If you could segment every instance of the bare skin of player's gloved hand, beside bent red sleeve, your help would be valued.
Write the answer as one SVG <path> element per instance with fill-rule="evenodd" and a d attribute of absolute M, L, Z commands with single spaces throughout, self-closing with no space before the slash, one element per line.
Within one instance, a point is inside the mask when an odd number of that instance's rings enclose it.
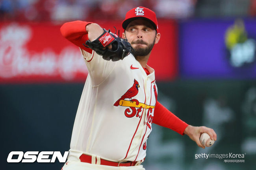
<path fill-rule="evenodd" d="M 103 29 L 98 24 L 96 24 L 96 23 L 88 24 L 85 27 L 85 29 L 86 29 L 86 31 L 88 33 L 88 39 L 90 41 L 96 40 L 96 38 L 98 38 L 104 32 Z M 111 49 L 112 45 L 110 44 L 106 48 Z M 103 49 L 106 49 L 106 48 L 103 48 Z"/>

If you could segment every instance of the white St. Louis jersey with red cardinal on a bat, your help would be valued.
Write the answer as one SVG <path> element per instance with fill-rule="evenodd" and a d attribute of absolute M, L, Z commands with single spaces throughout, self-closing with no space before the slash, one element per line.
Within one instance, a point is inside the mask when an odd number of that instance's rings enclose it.
<path fill-rule="evenodd" d="M 157 98 L 154 69 L 146 66 L 147 75 L 132 54 L 112 62 L 95 51 L 80 50 L 89 75 L 68 160 L 93 154 L 109 161 L 143 161 Z"/>

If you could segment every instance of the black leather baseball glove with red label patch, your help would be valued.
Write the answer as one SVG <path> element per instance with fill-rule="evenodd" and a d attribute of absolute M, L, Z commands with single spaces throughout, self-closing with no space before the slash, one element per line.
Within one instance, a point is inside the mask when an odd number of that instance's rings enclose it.
<path fill-rule="evenodd" d="M 110 29 L 100 35 L 96 40 L 87 40 L 85 44 L 93 49 L 98 55 L 102 55 L 104 60 L 118 61 L 124 59 L 132 51 L 131 44 L 126 40 L 118 37 L 117 35 L 110 32 Z M 112 45 L 112 49 L 106 48 L 108 45 Z M 103 49 L 105 48 L 105 49 Z"/>

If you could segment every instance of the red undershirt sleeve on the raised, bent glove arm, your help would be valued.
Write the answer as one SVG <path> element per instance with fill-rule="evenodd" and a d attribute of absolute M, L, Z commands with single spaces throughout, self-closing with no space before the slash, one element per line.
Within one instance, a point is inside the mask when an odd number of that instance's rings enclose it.
<path fill-rule="evenodd" d="M 85 27 L 91 23 L 92 22 L 85 21 L 66 22 L 61 26 L 60 31 L 63 37 L 67 38 L 67 40 L 85 51 L 92 53 L 92 49 L 83 46 L 88 40 L 88 34 Z"/>

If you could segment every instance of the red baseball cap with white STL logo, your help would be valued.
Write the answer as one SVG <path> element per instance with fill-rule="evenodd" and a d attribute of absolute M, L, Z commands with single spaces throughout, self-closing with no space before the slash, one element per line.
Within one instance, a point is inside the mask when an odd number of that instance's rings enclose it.
<path fill-rule="evenodd" d="M 146 19 L 148 20 L 152 26 L 156 29 L 156 32 L 158 30 L 158 24 L 156 20 L 156 14 L 154 11 L 145 8 L 145 7 L 135 7 L 128 11 L 125 15 L 125 19 L 122 22 L 123 29 L 126 29 L 128 24 L 135 19 Z"/>

